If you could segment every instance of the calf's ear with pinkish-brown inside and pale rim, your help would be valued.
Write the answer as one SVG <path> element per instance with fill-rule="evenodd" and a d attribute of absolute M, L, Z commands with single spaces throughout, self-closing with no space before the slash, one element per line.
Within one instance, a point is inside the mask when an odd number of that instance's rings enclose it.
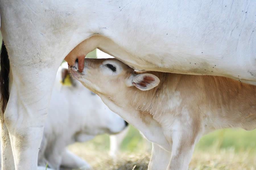
<path fill-rule="evenodd" d="M 153 74 L 143 73 L 132 78 L 132 85 L 140 90 L 150 90 L 159 84 L 160 80 Z"/>

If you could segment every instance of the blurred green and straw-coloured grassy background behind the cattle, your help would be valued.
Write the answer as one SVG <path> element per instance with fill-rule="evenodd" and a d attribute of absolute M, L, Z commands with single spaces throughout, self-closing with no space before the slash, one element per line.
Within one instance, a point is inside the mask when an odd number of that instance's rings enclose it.
<path fill-rule="evenodd" d="M 2 46 L 2 35 L 0 34 Z M 87 55 L 90 58 L 109 58 L 100 50 Z M 85 143 L 68 148 L 84 158 L 94 169 L 147 169 L 150 143 L 138 130 L 128 127 L 120 153 L 116 159 L 109 156 L 109 135 L 96 136 Z M 197 143 L 190 169 L 256 169 L 256 130 L 222 129 L 202 137 Z"/>

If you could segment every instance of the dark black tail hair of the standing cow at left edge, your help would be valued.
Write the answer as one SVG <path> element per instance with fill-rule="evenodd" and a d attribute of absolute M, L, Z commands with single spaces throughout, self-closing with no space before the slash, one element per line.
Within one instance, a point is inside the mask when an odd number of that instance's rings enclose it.
<path fill-rule="evenodd" d="M 0 93 L 1 99 L 0 102 L 2 104 L 2 114 L 4 114 L 4 110 L 6 108 L 7 102 L 9 100 L 9 73 L 10 73 L 10 61 L 8 57 L 8 53 L 6 47 L 4 45 L 4 41 L 2 43 L 1 56 L 0 56 Z"/>

